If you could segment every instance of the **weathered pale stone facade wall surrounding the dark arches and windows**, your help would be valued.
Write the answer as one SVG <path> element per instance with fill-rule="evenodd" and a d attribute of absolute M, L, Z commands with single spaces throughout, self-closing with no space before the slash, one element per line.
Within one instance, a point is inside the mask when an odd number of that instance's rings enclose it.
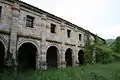
<path fill-rule="evenodd" d="M 66 67 L 67 49 L 72 51 L 72 66 L 79 64 L 78 52 L 85 48 L 87 30 L 21 1 L 0 0 L 0 6 L 0 42 L 4 45 L 5 60 L 8 54 L 11 54 L 14 65 L 17 66 L 20 47 L 30 43 L 36 47 L 35 68 L 37 69 L 47 68 L 47 51 L 51 46 L 58 50 L 57 68 Z M 32 28 L 26 27 L 27 15 L 34 18 Z M 55 33 L 51 33 L 51 24 L 55 25 Z M 67 30 L 70 32 L 68 33 Z M 89 34 L 90 39 L 95 40 L 95 35 L 90 32 Z M 4 64 L 7 65 L 7 61 Z"/>

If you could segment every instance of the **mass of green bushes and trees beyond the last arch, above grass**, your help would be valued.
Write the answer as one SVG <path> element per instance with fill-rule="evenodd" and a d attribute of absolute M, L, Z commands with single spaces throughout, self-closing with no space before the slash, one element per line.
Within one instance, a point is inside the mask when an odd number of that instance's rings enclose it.
<path fill-rule="evenodd" d="M 97 37 L 94 44 L 90 44 L 90 40 L 87 39 L 85 51 L 86 63 L 108 64 L 118 62 L 120 61 L 120 37 L 105 45 Z"/>

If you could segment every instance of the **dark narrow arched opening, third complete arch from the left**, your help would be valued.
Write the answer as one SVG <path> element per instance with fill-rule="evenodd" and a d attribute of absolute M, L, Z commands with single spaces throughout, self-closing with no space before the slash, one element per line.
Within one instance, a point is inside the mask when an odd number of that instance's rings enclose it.
<path fill-rule="evenodd" d="M 66 66 L 72 66 L 72 49 L 68 48 L 65 52 L 65 61 L 66 61 Z"/>

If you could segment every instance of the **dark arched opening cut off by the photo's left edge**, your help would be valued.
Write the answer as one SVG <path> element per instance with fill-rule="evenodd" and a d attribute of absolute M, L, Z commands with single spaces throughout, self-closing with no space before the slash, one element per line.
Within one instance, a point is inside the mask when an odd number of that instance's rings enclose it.
<path fill-rule="evenodd" d="M 0 72 L 4 72 L 4 56 L 5 47 L 2 42 L 0 42 Z"/>

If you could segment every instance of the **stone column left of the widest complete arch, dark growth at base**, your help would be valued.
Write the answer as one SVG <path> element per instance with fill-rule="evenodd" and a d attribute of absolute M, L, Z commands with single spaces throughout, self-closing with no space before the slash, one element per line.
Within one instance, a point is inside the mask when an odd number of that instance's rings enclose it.
<path fill-rule="evenodd" d="M 7 53 L 6 66 L 8 68 L 16 67 L 16 46 L 17 46 L 17 31 L 18 31 L 18 19 L 20 15 L 20 8 L 17 3 L 11 6 L 12 9 L 12 23 L 10 28 L 9 49 Z"/>

